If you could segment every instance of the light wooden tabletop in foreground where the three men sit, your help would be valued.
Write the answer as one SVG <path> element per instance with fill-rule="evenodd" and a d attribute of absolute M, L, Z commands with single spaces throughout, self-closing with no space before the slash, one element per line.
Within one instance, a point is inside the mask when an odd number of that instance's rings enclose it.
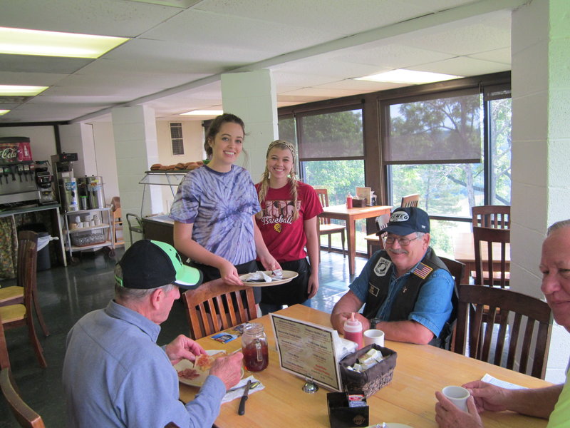
<path fill-rule="evenodd" d="M 317 325 L 331 326 L 328 313 L 303 305 L 287 307 L 277 313 Z M 219 428 L 330 427 L 326 400 L 329 391 L 320 387 L 314 394 L 303 392 L 301 388 L 305 383 L 304 379 L 289 374 L 279 367 L 269 315 L 260 317 L 254 322 L 264 325 L 269 342 L 269 366 L 262 372 L 253 373 L 254 377 L 264 384 L 264 389 L 250 392 L 243 416 L 237 414 L 239 399 L 222 404 L 215 426 Z M 233 352 L 240 347 L 239 339 L 222 344 L 210 337 L 203 337 L 198 342 L 206 349 L 223 349 L 227 352 Z M 461 385 L 481 379 L 487 373 L 522 387 L 550 385 L 549 382 L 536 377 L 430 345 L 386 340 L 385 347 L 398 352 L 398 357 L 392 382 L 368 397 L 370 425 L 397 422 L 414 428 L 437 427 L 435 391 L 447 385 Z M 197 387 L 180 384 L 180 399 L 183 402 L 191 400 L 197 392 Z M 514 412 L 484 412 L 481 416 L 485 428 L 538 428 L 546 427 L 547 423 L 545 419 L 527 417 Z"/>

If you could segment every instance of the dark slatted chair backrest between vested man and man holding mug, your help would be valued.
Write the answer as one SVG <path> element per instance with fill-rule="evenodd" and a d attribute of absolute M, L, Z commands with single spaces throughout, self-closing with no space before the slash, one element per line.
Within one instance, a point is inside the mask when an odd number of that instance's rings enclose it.
<path fill-rule="evenodd" d="M 544 379 L 551 329 L 552 313 L 542 300 L 501 288 L 460 285 L 454 348 L 457 353 L 465 355 L 468 345 L 470 357 L 521 373 L 527 373 L 530 356 L 530 374 Z M 507 362 L 502 363 L 505 348 Z M 518 368 L 514 364 L 517 359 Z"/>

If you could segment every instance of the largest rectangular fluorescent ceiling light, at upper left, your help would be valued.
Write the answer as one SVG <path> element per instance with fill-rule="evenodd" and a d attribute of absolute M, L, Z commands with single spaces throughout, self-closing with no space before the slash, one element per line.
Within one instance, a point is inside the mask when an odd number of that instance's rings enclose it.
<path fill-rule="evenodd" d="M 125 37 L 0 27 L 0 54 L 99 58 L 128 40 Z"/>

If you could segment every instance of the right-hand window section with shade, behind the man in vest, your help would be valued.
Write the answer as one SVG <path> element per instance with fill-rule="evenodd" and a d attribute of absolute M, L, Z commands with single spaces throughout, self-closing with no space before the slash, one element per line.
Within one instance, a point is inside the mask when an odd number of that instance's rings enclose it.
<path fill-rule="evenodd" d="M 391 205 L 420 193 L 418 206 L 437 216 L 431 235 L 440 253 L 451 255 L 454 233 L 469 230 L 454 220 L 469 220 L 473 206 L 510 203 L 510 99 L 501 96 L 508 91 L 384 105 Z"/>

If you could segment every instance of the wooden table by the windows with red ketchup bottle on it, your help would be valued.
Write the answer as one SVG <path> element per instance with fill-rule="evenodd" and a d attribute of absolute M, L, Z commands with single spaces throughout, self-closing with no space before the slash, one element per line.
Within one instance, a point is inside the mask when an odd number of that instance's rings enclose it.
<path fill-rule="evenodd" d="M 346 208 L 346 205 L 331 205 L 323 207 L 319 217 L 344 220 L 346 222 L 346 235 L 348 238 L 348 272 L 354 275 L 354 258 L 356 257 L 356 220 L 363 218 L 378 217 L 378 215 L 390 214 L 391 206 L 373 205 L 371 207 Z M 318 228 L 318 222 L 317 222 Z"/>

